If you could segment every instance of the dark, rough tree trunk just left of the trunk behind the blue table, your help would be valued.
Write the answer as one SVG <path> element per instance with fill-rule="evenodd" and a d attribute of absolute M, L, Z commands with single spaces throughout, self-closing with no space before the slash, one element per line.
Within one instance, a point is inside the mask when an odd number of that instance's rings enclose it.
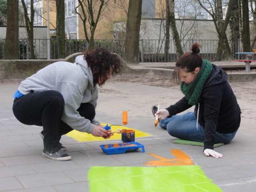
<path fill-rule="evenodd" d="M 229 26 L 231 30 L 231 51 L 233 56 L 236 56 L 236 52 L 239 52 L 238 45 L 240 40 L 239 34 L 239 7 L 238 7 L 238 0 L 234 0 L 232 13 L 229 20 Z"/>

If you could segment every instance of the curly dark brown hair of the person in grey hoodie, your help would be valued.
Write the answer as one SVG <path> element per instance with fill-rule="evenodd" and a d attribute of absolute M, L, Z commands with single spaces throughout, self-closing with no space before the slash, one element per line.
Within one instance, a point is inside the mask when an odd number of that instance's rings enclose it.
<path fill-rule="evenodd" d="M 111 76 L 118 74 L 122 70 L 123 66 L 120 59 L 106 48 L 92 48 L 83 54 L 88 67 L 92 70 L 94 85 L 99 84 L 99 86 L 102 86 L 105 84 L 111 67 L 113 69 Z M 99 80 L 101 81 L 99 82 Z"/>

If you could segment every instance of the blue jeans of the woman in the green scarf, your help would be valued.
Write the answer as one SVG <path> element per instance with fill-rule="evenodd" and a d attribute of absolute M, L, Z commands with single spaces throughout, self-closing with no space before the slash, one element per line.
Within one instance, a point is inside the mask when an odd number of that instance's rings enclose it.
<path fill-rule="evenodd" d="M 184 140 L 204 142 L 204 128 L 198 123 L 198 129 L 196 129 L 196 116 L 193 112 L 160 120 L 159 126 L 166 129 L 171 136 Z M 216 132 L 215 143 L 227 144 L 235 135 L 236 131 L 227 134 Z"/>

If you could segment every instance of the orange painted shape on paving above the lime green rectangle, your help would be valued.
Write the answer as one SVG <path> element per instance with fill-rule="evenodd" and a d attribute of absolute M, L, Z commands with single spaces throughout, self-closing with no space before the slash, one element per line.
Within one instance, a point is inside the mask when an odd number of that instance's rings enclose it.
<path fill-rule="evenodd" d="M 170 150 L 171 154 L 176 158 L 166 159 L 164 157 L 158 156 L 154 153 L 150 153 L 149 155 L 157 158 L 159 160 L 153 160 L 146 162 L 146 166 L 180 166 L 180 165 L 194 165 L 194 162 L 190 159 L 190 156 L 185 154 L 182 150 L 172 149 Z"/>

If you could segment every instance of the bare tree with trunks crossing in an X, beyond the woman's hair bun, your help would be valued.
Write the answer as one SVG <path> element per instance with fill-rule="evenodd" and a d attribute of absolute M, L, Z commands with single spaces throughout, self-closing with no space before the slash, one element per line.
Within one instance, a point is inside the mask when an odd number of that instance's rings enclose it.
<path fill-rule="evenodd" d="M 213 4 L 206 0 L 205 2 L 211 8 L 211 11 L 208 10 L 201 2 L 198 0 L 200 6 L 210 14 L 213 19 L 217 34 L 218 34 L 218 49 L 217 49 L 217 60 L 222 59 L 222 53 L 224 52 L 224 57 L 230 59 L 232 57 L 232 53 L 230 50 L 230 46 L 228 44 L 228 38 L 226 36 L 226 29 L 228 27 L 228 22 L 231 16 L 232 7 L 233 7 L 233 0 L 229 0 L 228 2 L 228 10 L 226 13 L 226 18 L 223 20 L 223 12 L 222 12 L 222 1 L 221 0 L 214 0 Z"/>

